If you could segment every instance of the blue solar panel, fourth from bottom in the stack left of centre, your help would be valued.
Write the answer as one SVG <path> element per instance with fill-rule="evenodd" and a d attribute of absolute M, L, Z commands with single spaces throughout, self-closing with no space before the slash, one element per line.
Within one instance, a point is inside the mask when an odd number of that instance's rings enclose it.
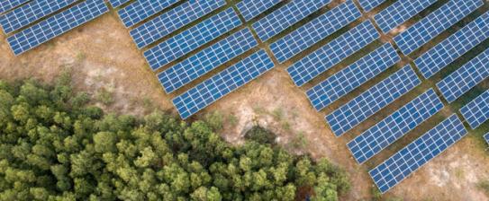
<path fill-rule="evenodd" d="M 225 0 L 188 1 L 131 30 L 131 37 L 138 48 L 144 48 L 205 14 L 213 12 L 224 4 L 226 4 Z"/>

